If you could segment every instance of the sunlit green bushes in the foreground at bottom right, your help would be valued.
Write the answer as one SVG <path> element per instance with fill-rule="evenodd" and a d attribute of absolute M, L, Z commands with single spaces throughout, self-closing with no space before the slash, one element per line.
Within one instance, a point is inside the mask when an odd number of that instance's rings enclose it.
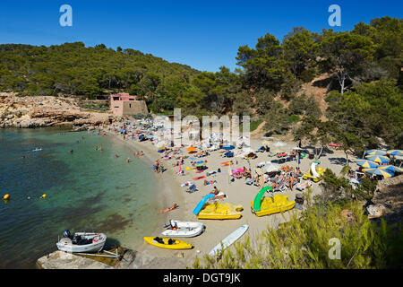
<path fill-rule="evenodd" d="M 339 259 L 332 257 L 334 239 Z M 196 258 L 193 268 L 401 268 L 402 243 L 401 223 L 371 222 L 358 202 L 309 203 L 278 229 L 268 226 L 257 240 L 239 240 L 218 257 Z"/>

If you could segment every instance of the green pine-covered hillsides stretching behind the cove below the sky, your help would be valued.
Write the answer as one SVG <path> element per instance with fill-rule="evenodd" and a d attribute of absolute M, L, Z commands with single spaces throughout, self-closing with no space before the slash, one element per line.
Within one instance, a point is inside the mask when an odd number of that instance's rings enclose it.
<path fill-rule="evenodd" d="M 343 143 L 347 157 L 381 139 L 391 148 L 403 146 L 402 39 L 402 20 L 390 17 L 344 32 L 297 27 L 282 42 L 267 33 L 254 48 L 239 47 L 239 68 L 221 66 L 216 73 L 103 44 L 7 44 L 0 45 L 0 90 L 85 96 L 126 91 L 155 113 L 181 108 L 184 116 L 253 115 L 254 122 L 266 122 L 268 135 L 293 132 L 318 151 Z M 309 92 L 299 92 L 319 75 L 322 80 L 312 84 L 328 89 L 326 111 Z"/>

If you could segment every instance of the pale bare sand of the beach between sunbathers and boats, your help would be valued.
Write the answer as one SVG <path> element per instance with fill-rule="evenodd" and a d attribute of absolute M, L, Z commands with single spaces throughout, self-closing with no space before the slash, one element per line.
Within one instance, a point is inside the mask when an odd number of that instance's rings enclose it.
<path fill-rule="evenodd" d="M 121 139 L 124 141 L 124 143 L 133 148 L 133 150 L 144 152 L 144 155 L 141 158 L 148 165 L 150 165 L 150 169 L 152 169 L 152 164 L 155 161 L 161 160 L 162 158 L 161 154 L 157 152 L 157 148 L 150 143 L 150 141 L 139 142 L 138 140 L 128 139 L 128 137 L 126 137 L 124 140 L 123 135 L 110 131 L 108 127 L 104 127 L 103 130 L 107 133 L 107 135 L 115 136 L 116 138 Z M 262 145 L 261 142 L 262 141 L 259 139 L 251 139 L 251 148 L 258 149 Z M 287 143 L 287 147 L 292 147 L 295 145 L 296 143 Z M 285 147 L 286 150 L 287 147 Z M 197 237 L 184 239 L 184 241 L 193 245 L 193 248 L 189 250 L 175 251 L 156 248 L 144 242 L 138 251 L 140 251 L 142 254 L 150 255 L 150 257 L 159 257 L 161 259 L 160 264 L 144 265 L 144 268 L 185 268 L 186 266 L 192 266 L 196 257 L 202 259 L 202 257 L 205 254 L 208 254 L 210 250 L 219 243 L 220 240 L 226 238 L 228 234 L 243 224 L 249 225 L 249 230 L 246 231 L 245 235 L 249 236 L 253 241 L 253 239 L 256 239 L 262 233 L 262 230 L 266 230 L 268 225 L 276 228 L 279 223 L 287 222 L 292 213 L 299 213 L 299 210 L 294 208 L 282 214 L 276 213 L 262 217 L 254 215 L 251 212 L 250 204 L 253 201 L 254 196 L 256 196 L 256 194 L 259 192 L 260 187 L 246 185 L 244 178 L 236 178 L 234 181 L 231 181 L 230 179 L 232 177 L 228 176 L 228 168 L 221 166 L 221 162 L 231 160 L 235 163 L 231 166 L 231 169 L 243 167 L 249 169 L 248 161 L 241 157 L 233 157 L 231 159 L 223 158 L 222 154 L 223 150 L 219 150 L 210 152 L 209 156 L 201 158 L 201 160 L 207 160 L 207 171 L 217 170 L 218 168 L 221 169 L 221 173 L 216 173 L 206 178 L 207 180 L 217 180 L 215 185 L 208 186 L 203 185 L 204 179 L 193 179 L 194 177 L 205 174 L 205 172 L 197 174 L 193 170 L 185 170 L 186 167 L 192 166 L 189 158 L 184 160 L 182 169 L 184 170 L 184 176 L 176 175 L 178 167 L 173 166 L 176 164 L 175 159 L 161 160 L 163 161 L 164 167 L 167 170 L 162 174 L 156 173 L 156 177 L 160 178 L 159 184 L 161 185 L 159 208 L 165 209 L 169 206 L 172 206 L 174 203 L 178 204 L 179 208 L 168 213 L 159 214 L 160 229 L 155 230 L 154 234 L 144 234 L 144 236 L 161 236 L 160 232 L 164 230 L 163 225 L 164 223 L 167 223 L 169 219 L 202 222 L 205 224 L 206 229 Z M 252 170 L 254 170 L 256 165 L 262 161 L 271 161 L 277 158 L 276 156 L 270 157 L 266 152 L 257 152 L 256 154 L 258 157 L 249 161 Z M 187 152 L 184 152 L 184 155 L 188 155 Z M 134 156 L 135 155 L 133 154 L 133 157 Z M 343 159 L 344 153 L 341 151 L 332 150 L 329 153 L 324 152 L 319 159 L 321 161 L 320 166 L 322 168 L 330 168 L 330 170 L 333 170 L 339 174 L 340 170 L 343 168 Z M 307 157 L 301 159 L 299 167 L 302 172 L 306 172 L 310 169 L 312 161 L 313 160 L 309 160 Z M 297 161 L 287 161 L 287 163 L 283 165 L 288 165 L 294 168 L 298 167 Z M 198 191 L 193 193 L 185 192 L 186 188 L 181 187 L 181 184 L 186 181 L 193 181 L 196 184 Z M 313 196 L 321 193 L 319 184 L 320 182 L 313 183 Z M 219 191 L 222 191 L 227 195 L 227 198 L 221 200 L 220 203 L 241 204 L 244 207 L 242 217 L 240 219 L 198 220 L 196 215 L 193 214 L 194 207 L 201 201 L 203 196 L 206 196 L 212 191 L 214 186 L 217 186 Z M 289 200 L 295 200 L 296 193 L 300 193 L 300 191 L 296 190 L 296 188 L 294 188 L 294 191 L 291 191 L 290 188 L 287 188 L 287 190 L 281 192 L 282 195 L 289 196 Z M 244 239 L 244 237 L 240 240 Z"/>

